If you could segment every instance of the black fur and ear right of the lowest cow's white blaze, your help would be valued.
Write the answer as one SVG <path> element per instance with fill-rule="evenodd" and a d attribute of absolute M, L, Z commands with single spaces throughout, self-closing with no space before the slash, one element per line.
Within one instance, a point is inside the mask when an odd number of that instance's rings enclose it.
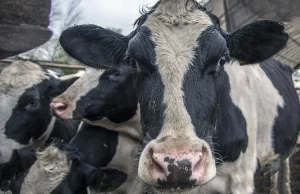
<path fill-rule="evenodd" d="M 58 147 L 67 154 L 68 161 L 72 165 L 68 175 L 51 194 L 86 194 L 87 186 L 93 191 L 108 192 L 118 188 L 126 180 L 127 175 L 124 172 L 110 168 L 95 168 L 86 163 L 76 146 L 63 144 Z"/>

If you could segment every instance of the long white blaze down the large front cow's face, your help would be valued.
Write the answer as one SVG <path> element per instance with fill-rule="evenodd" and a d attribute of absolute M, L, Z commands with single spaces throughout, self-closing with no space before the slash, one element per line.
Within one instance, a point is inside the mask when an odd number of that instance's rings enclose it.
<path fill-rule="evenodd" d="M 156 65 L 164 85 L 165 119 L 160 136 L 195 134 L 184 105 L 182 87 L 194 60 L 197 39 L 212 21 L 206 13 L 192 9 L 186 2 L 161 1 L 144 24 L 150 29 L 156 45 Z"/>

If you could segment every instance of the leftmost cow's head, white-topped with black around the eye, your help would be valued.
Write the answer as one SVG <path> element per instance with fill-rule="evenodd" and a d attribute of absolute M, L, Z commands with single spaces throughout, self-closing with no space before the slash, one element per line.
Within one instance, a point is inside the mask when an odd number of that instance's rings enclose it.
<path fill-rule="evenodd" d="M 10 159 L 13 149 L 22 148 L 44 134 L 51 120 L 52 97 L 62 93 L 72 82 L 60 81 L 30 61 L 16 61 L 3 69 L 0 74 L 0 163 Z"/>

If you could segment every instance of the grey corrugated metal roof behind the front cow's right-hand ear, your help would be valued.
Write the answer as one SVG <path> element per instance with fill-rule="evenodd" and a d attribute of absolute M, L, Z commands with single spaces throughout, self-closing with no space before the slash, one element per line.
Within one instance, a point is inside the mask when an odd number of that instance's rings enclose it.
<path fill-rule="evenodd" d="M 286 23 L 290 39 L 275 58 L 296 67 L 300 64 L 300 0 L 224 0 L 228 31 L 258 19 Z"/>

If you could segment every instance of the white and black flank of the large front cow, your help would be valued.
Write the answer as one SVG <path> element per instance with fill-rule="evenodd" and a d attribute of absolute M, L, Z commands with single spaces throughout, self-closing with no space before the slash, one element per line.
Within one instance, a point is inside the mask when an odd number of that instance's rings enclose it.
<path fill-rule="evenodd" d="M 300 129 L 291 69 L 270 59 L 259 65 L 228 65 L 225 71 L 232 103 L 246 122 L 247 150 L 256 151 L 261 164 L 277 154 L 287 157 Z"/>

